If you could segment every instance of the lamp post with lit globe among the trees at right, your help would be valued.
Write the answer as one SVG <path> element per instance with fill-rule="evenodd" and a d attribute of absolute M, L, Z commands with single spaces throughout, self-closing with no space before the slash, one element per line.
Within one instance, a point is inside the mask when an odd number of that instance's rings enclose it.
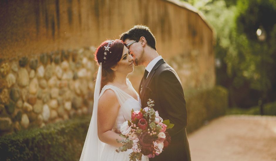
<path fill-rule="evenodd" d="M 258 28 L 258 30 L 256 31 L 256 35 L 258 37 L 258 40 L 262 43 L 265 42 L 266 39 L 266 33 L 265 30 L 262 28 L 262 26 L 260 26 Z M 263 47 L 263 44 L 261 45 L 261 47 Z M 260 114 L 263 115 L 264 111 L 263 111 L 263 103 L 266 97 L 266 87 L 265 87 L 265 81 L 264 81 L 264 76 L 265 76 L 265 64 L 264 64 L 264 52 L 262 51 L 261 56 L 261 60 L 260 60 L 260 88 L 262 91 L 262 96 L 260 97 L 260 99 L 258 100 L 258 105 L 260 107 Z"/>

